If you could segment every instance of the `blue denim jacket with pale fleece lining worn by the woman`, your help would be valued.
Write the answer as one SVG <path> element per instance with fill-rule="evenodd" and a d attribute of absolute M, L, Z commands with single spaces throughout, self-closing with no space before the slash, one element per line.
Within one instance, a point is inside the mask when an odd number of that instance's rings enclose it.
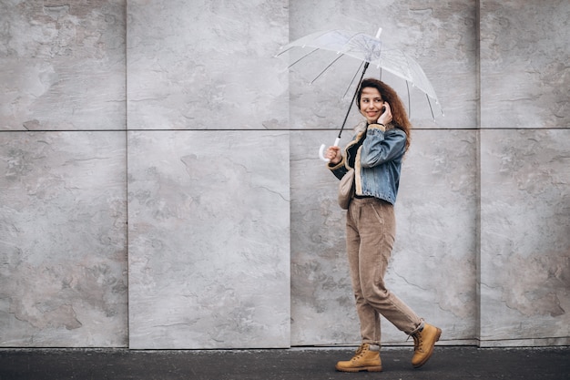
<path fill-rule="evenodd" d="M 384 132 L 377 124 L 369 125 L 346 146 L 341 162 L 328 167 L 340 180 L 351 168 L 349 163 L 354 157 L 355 195 L 375 197 L 394 204 L 400 186 L 406 134 L 402 129 L 394 128 L 393 124 L 386 129 Z"/>

